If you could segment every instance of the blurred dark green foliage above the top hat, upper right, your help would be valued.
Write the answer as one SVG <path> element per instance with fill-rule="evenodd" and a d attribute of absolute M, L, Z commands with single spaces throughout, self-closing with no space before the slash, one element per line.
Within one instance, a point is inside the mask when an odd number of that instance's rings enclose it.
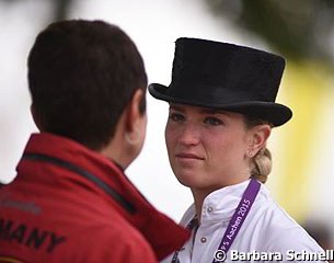
<path fill-rule="evenodd" d="M 289 58 L 334 61 L 334 0 L 205 1 L 214 14 Z"/>

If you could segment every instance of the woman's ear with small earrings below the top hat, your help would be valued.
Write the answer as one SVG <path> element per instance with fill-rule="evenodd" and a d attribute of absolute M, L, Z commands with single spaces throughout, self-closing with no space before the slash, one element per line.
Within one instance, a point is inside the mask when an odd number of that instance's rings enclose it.
<path fill-rule="evenodd" d="M 270 136 L 272 127 L 268 124 L 256 125 L 252 128 L 251 150 L 254 155 L 265 147 L 268 137 Z"/>

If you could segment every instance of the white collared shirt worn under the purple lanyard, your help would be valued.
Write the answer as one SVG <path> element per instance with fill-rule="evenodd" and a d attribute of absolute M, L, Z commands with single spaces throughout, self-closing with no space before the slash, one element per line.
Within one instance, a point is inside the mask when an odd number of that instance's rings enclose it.
<path fill-rule="evenodd" d="M 212 262 L 228 224 L 247 184 L 249 180 L 217 190 L 205 198 L 200 215 L 200 226 L 196 235 L 193 230 L 193 237 L 180 250 L 180 263 Z M 184 214 L 181 225 L 187 226 L 195 217 L 195 205 L 193 204 Z M 239 252 L 250 253 L 240 254 Z M 272 252 L 272 254 L 261 255 L 261 252 Z M 261 262 L 258 258 L 256 260 L 256 256 L 272 256 L 275 261 L 280 255 L 280 262 L 297 262 L 297 260 L 306 259 L 308 252 L 324 253 L 303 228 L 272 199 L 267 188 L 262 184 L 224 262 L 242 262 L 242 259 L 245 259 L 242 256 L 251 259 L 243 262 Z M 240 260 L 237 259 L 237 253 L 239 253 Z M 171 261 L 172 255 L 162 262 L 170 263 Z"/>

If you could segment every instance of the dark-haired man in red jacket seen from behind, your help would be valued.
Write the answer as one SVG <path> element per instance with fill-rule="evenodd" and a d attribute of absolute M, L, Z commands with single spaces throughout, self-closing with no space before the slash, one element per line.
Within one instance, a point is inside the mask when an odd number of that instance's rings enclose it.
<path fill-rule="evenodd" d="M 147 76 L 131 39 L 102 21 L 41 32 L 28 56 L 33 134 L 0 187 L 0 262 L 157 262 L 188 232 L 127 180 L 146 134 Z"/>

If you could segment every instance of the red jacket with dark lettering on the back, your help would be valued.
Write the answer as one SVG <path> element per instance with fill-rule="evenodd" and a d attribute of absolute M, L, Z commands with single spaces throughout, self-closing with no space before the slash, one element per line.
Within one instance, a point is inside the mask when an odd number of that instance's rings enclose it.
<path fill-rule="evenodd" d="M 0 188 L 1 263 L 150 263 L 187 238 L 119 167 L 59 136 L 32 135 Z"/>

